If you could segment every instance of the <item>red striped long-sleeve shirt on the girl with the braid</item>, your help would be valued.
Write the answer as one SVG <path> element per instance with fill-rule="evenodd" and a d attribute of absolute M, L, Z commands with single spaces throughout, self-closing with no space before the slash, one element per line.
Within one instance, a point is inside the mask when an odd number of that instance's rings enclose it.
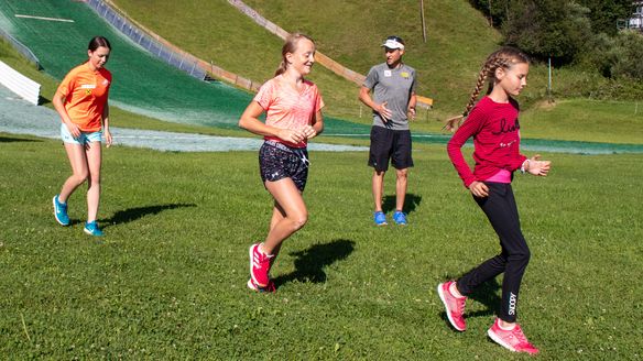
<path fill-rule="evenodd" d="M 519 105 L 495 102 L 483 97 L 469 113 L 447 144 L 447 153 L 465 187 L 476 180 L 510 183 L 526 156 L 520 153 Z M 473 136 L 473 172 L 462 156 L 461 147 Z M 505 180 L 505 182 L 503 182 Z"/>

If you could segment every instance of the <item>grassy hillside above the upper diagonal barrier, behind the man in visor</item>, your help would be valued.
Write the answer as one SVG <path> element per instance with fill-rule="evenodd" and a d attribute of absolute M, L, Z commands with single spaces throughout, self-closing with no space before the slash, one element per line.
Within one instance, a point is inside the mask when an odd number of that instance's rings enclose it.
<path fill-rule="evenodd" d="M 405 62 L 418 73 L 418 94 L 435 98 L 438 111 L 461 107 L 481 62 L 500 41 L 500 34 L 462 0 L 425 1 L 426 43 L 418 1 L 246 2 L 288 31 L 309 33 L 322 52 L 361 74 L 383 62 L 383 39 L 402 36 Z"/>

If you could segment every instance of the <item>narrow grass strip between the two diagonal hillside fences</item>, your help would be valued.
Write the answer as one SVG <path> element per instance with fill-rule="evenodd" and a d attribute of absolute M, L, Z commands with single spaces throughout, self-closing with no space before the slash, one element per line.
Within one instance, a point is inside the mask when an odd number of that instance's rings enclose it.
<path fill-rule="evenodd" d="M 113 2 L 183 50 L 252 80 L 270 79 L 281 61 L 283 42 L 225 0 Z M 315 68 L 310 79 L 323 87 L 324 100 L 328 109 L 333 109 L 331 114 L 342 118 L 359 114 L 355 84 L 320 66 Z"/>

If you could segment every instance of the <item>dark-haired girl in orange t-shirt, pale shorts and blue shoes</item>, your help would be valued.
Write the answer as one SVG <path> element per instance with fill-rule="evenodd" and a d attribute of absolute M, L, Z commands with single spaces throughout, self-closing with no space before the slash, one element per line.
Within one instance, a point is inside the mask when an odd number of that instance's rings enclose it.
<path fill-rule="evenodd" d="M 87 48 L 89 59 L 65 76 L 52 100 L 61 116 L 61 136 L 73 172 L 61 193 L 54 196 L 54 216 L 62 226 L 69 225 L 67 200 L 87 180 L 87 222 L 84 231 L 90 236 L 102 236 L 96 216 L 100 200 L 100 142 L 103 132 L 107 146 L 111 145 L 107 102 L 111 73 L 105 68 L 110 52 L 111 45 L 107 39 L 91 39 Z"/>

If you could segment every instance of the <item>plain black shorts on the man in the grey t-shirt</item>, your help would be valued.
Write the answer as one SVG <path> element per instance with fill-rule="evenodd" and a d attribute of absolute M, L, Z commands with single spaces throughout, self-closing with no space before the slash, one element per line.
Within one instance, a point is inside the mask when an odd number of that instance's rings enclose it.
<path fill-rule="evenodd" d="M 391 160 L 391 164 L 396 169 L 405 169 L 413 166 L 411 131 L 372 127 L 369 166 L 372 166 L 378 172 L 385 172 L 389 169 L 389 160 Z"/>

